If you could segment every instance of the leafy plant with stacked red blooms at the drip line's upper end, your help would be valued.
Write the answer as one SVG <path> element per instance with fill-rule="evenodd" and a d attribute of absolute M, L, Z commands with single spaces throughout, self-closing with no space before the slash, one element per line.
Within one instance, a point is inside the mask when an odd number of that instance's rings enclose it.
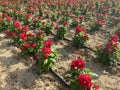
<path fill-rule="evenodd" d="M 41 51 L 38 55 L 38 72 L 49 71 L 53 67 L 58 59 L 58 52 L 56 47 L 52 45 L 51 40 L 46 40 Z"/>

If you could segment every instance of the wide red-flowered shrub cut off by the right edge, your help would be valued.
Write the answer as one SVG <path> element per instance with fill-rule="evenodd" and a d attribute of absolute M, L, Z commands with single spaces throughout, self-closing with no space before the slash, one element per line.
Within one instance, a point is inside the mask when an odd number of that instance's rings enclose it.
<path fill-rule="evenodd" d="M 118 36 L 112 35 L 110 40 L 105 45 L 97 46 L 97 58 L 99 61 L 113 64 L 117 62 L 120 55 L 120 44 L 118 42 Z"/>

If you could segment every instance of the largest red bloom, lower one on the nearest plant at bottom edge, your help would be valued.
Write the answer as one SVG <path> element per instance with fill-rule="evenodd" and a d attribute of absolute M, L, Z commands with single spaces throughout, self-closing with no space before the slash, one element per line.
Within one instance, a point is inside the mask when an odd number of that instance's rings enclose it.
<path fill-rule="evenodd" d="M 90 90 L 92 86 L 92 78 L 88 74 L 80 74 L 77 77 L 77 80 L 79 80 L 81 86 L 83 86 L 87 90 Z"/>

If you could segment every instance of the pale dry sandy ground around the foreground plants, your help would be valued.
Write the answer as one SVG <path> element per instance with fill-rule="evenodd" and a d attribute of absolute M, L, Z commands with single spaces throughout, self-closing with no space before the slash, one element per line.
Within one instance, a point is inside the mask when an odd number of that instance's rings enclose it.
<path fill-rule="evenodd" d="M 91 34 L 87 46 L 94 48 L 105 39 L 100 32 Z M 10 39 L 0 33 L 0 90 L 68 90 L 52 74 L 36 74 L 33 61 L 21 55 L 20 50 L 10 44 Z M 55 42 L 61 59 L 53 68 L 62 78 L 69 70 L 71 60 L 77 57 L 86 59 L 86 67 L 98 74 L 95 82 L 100 90 L 120 90 L 120 66 L 109 67 L 91 59 L 94 53 L 88 49 L 76 50 L 66 41 Z"/>

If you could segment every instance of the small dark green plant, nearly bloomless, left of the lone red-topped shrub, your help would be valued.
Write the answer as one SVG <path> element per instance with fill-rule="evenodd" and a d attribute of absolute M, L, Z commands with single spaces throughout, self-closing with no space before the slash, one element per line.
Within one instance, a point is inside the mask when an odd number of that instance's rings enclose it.
<path fill-rule="evenodd" d="M 57 38 L 58 39 L 64 39 L 66 32 L 67 32 L 67 27 L 66 26 L 58 27 L 57 34 L 56 34 Z"/>

